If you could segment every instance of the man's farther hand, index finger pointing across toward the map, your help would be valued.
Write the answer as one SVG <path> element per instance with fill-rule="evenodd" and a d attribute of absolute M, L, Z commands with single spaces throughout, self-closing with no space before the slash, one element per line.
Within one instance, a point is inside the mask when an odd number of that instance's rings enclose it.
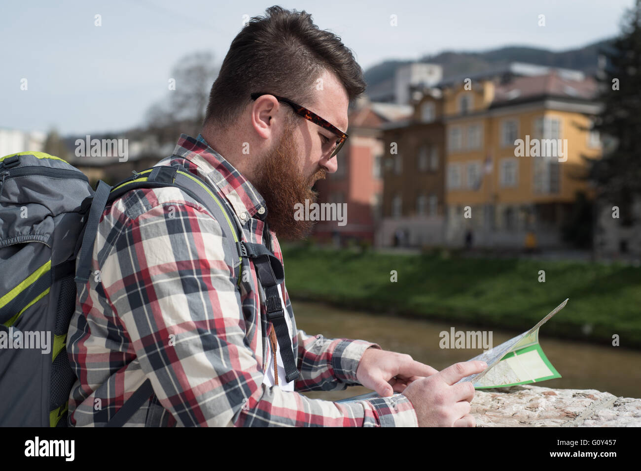
<path fill-rule="evenodd" d="M 365 350 L 356 369 L 356 379 L 382 397 L 403 390 L 416 379 L 438 370 L 412 360 L 410 355 L 370 347 Z"/>

